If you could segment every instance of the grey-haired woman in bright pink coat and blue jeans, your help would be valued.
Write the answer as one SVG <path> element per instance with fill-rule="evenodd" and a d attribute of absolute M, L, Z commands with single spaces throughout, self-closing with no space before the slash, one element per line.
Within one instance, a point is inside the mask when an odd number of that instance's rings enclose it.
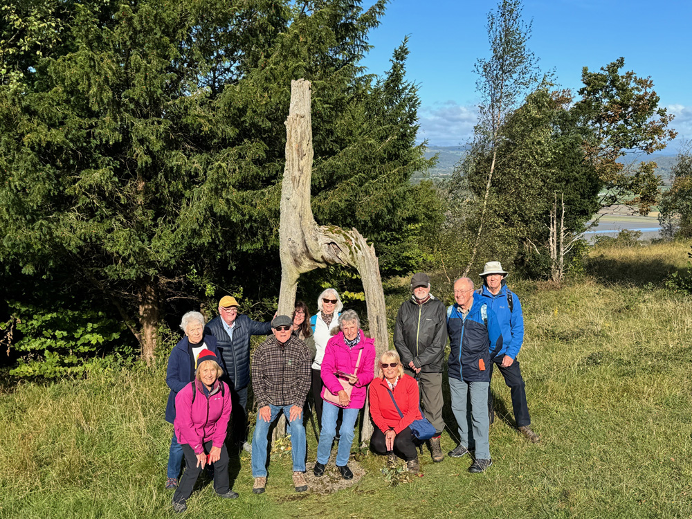
<path fill-rule="evenodd" d="M 339 409 L 343 409 L 336 468 L 341 477 L 350 480 L 353 473 L 348 467 L 348 459 L 351 455 L 356 419 L 365 405 L 367 385 L 374 376 L 375 345 L 372 338 L 367 338 L 363 334 L 363 330 L 360 329 L 361 320 L 353 310 L 343 312 L 338 322 L 340 331 L 329 339 L 325 358 L 322 360 L 321 374 L 322 382 L 325 384 L 322 389 L 322 430 L 313 472 L 318 477 L 325 473 L 331 444 L 336 435 L 336 417 Z M 348 385 L 350 395 L 340 381 L 345 381 Z M 330 399 L 332 401 L 329 401 Z"/>

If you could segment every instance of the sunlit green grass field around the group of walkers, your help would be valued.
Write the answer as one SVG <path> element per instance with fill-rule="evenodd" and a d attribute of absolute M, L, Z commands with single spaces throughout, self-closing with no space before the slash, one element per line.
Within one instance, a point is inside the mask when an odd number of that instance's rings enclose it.
<path fill-rule="evenodd" d="M 257 496 L 244 455 L 233 468 L 240 498 L 219 500 L 204 486 L 184 517 L 692 516 L 692 302 L 660 288 L 662 271 L 684 268 L 687 250 L 597 251 L 592 275 L 562 288 L 515 280 L 527 322 L 520 362 L 542 441 L 531 445 L 513 428 L 509 390 L 496 374 L 487 473 L 467 473 L 467 458 L 432 464 L 426 452 L 422 477 L 390 486 L 383 459 L 367 455 L 367 474 L 352 488 L 296 494 L 282 455 Z M 405 296 L 392 291 L 390 313 Z M 0 395 L 0 518 L 172 517 L 163 490 L 171 434 L 164 378 L 159 365 L 21 383 Z M 448 405 L 445 418 L 456 436 Z M 308 438 L 311 468 L 311 430 Z M 455 446 L 449 432 L 442 444 Z"/>

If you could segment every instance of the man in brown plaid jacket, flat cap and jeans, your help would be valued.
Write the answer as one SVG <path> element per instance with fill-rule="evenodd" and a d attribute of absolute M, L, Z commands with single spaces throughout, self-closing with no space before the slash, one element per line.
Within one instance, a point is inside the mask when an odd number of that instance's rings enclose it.
<path fill-rule="evenodd" d="M 302 409 L 310 389 L 312 355 L 305 343 L 291 335 L 293 320 L 277 316 L 271 322 L 272 337 L 253 353 L 251 369 L 257 401 L 257 424 L 253 435 L 253 493 L 266 486 L 266 454 L 269 426 L 280 414 L 291 427 L 293 485 L 296 492 L 307 490 L 305 481 L 305 428 Z"/>

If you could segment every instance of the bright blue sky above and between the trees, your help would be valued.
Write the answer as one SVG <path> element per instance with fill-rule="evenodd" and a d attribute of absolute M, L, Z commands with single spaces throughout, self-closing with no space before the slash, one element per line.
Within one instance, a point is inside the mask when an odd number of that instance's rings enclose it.
<path fill-rule="evenodd" d="M 363 7 L 372 1 L 363 2 Z M 496 0 L 390 0 L 378 28 L 370 32 L 368 71 L 389 69 L 392 51 L 406 35 L 407 78 L 419 84 L 421 138 L 430 145 L 466 143 L 476 119 L 473 64 L 489 57 L 486 19 Z M 576 93 L 581 70 L 598 70 L 618 57 L 625 70 L 650 76 L 660 106 L 675 114 L 678 138 L 692 138 L 692 2 L 683 0 L 525 0 L 523 17 L 533 19 L 529 48 L 541 70 Z M 675 152 L 675 143 L 667 153 Z"/>

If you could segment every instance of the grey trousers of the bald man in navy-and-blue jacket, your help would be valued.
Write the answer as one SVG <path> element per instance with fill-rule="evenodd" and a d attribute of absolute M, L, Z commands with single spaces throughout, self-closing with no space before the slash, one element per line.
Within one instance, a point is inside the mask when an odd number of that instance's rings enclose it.
<path fill-rule="evenodd" d="M 476 459 L 490 459 L 489 386 L 489 382 L 463 382 L 449 377 L 452 412 L 459 426 L 461 444 L 468 448 L 475 440 Z"/>

